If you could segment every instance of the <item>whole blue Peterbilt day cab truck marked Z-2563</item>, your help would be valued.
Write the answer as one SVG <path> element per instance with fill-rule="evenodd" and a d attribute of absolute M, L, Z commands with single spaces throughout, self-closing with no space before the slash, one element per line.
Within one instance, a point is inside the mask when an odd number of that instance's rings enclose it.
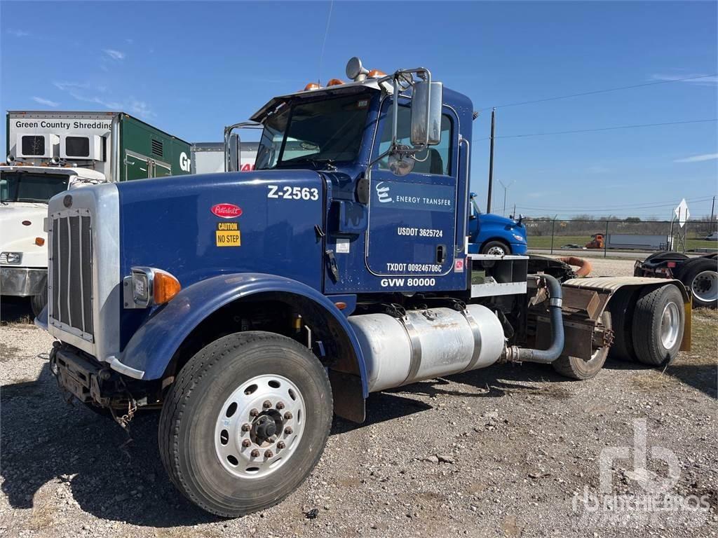
<path fill-rule="evenodd" d="M 169 478 L 213 514 L 284 499 L 370 392 L 497 362 L 588 379 L 611 350 L 689 348 L 675 280 L 471 254 L 470 99 L 423 67 L 347 75 L 252 116 L 253 171 L 50 200 L 52 372 L 121 425 L 161 408 Z"/>

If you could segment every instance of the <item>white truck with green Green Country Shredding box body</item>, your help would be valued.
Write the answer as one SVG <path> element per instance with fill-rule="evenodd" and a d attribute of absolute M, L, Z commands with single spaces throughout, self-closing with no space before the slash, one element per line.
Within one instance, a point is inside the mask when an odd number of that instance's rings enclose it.
<path fill-rule="evenodd" d="M 10 110 L 0 164 L 0 294 L 47 303 L 47 202 L 106 181 L 190 173 L 190 145 L 121 112 Z"/>

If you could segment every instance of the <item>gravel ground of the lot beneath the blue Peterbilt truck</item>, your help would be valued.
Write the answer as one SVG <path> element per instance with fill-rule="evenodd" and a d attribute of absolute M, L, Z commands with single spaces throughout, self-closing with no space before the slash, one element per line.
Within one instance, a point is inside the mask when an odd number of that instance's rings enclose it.
<path fill-rule="evenodd" d="M 630 274 L 633 260 L 594 267 Z M 139 415 L 129 440 L 66 403 L 47 369 L 50 336 L 23 323 L 22 306 L 4 308 L 3 319 L 1 537 L 717 534 L 715 313 L 694 316 L 693 351 L 665 372 L 607 362 L 595 379 L 573 382 L 551 367 L 503 365 L 372 395 L 365 424 L 335 420 L 322 461 L 294 494 L 233 520 L 196 509 L 167 481 L 157 413 Z M 637 419 L 647 428 L 643 474 L 631 459 Z M 651 471 L 666 476 L 651 452 L 662 447 L 679 466 L 671 494 L 703 496 L 711 508 L 634 513 L 623 524 L 592 514 L 582 499 L 598 494 L 607 447 L 632 447 L 612 463 L 612 494 L 643 498 Z"/>

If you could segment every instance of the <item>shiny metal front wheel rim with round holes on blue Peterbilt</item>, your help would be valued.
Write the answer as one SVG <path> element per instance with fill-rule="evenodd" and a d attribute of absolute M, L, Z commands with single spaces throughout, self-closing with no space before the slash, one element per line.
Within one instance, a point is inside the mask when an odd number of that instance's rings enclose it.
<path fill-rule="evenodd" d="M 215 425 L 215 452 L 228 473 L 262 478 L 292 458 L 304 433 L 304 398 L 281 375 L 258 375 L 223 403 Z"/>

